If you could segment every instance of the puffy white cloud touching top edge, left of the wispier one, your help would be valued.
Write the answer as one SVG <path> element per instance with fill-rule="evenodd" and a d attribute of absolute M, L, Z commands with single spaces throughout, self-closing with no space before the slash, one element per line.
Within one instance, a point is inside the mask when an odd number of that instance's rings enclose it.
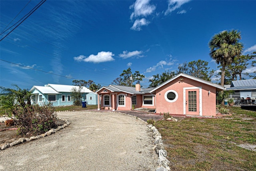
<path fill-rule="evenodd" d="M 130 6 L 130 9 L 134 8 L 134 12 L 132 12 L 130 19 L 136 17 L 146 17 L 154 12 L 156 6 L 149 4 L 150 0 L 136 0 L 136 2 Z"/>

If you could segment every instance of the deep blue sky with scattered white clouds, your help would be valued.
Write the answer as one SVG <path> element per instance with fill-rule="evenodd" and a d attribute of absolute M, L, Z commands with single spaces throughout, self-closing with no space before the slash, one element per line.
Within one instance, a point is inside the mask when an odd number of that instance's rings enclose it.
<path fill-rule="evenodd" d="M 40 1 L 28 2 L 0 1 L 1 32 L 26 4 L 9 26 Z M 47 0 L 0 42 L 0 85 L 30 89 L 78 79 L 103 86 L 130 67 L 145 75 L 146 87 L 152 75 L 199 59 L 216 70 L 208 48 L 214 34 L 237 29 L 243 54 L 256 51 L 255 9 L 255 0 Z"/>

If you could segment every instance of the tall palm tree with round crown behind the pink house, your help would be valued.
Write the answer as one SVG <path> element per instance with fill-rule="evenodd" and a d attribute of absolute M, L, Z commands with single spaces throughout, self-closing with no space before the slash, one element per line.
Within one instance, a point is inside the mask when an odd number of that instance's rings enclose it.
<path fill-rule="evenodd" d="M 238 30 L 224 30 L 215 34 L 210 40 L 208 46 L 210 48 L 210 57 L 221 64 L 221 81 L 220 85 L 224 85 L 225 68 L 234 61 L 236 56 L 239 56 L 243 49 L 243 44 L 239 42 L 241 32 Z"/>

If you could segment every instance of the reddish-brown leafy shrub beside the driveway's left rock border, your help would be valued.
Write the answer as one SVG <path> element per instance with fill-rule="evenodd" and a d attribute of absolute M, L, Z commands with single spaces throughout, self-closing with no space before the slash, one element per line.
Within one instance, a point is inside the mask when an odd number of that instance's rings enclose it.
<path fill-rule="evenodd" d="M 31 133 L 38 135 L 56 127 L 57 114 L 52 103 L 42 106 L 26 105 L 14 107 L 14 123 L 18 128 L 18 134 Z"/>

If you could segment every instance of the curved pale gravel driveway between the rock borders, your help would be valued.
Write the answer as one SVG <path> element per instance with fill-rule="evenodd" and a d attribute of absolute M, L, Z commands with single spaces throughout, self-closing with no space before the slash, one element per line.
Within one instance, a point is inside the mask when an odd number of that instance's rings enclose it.
<path fill-rule="evenodd" d="M 113 112 L 60 112 L 70 125 L 0 151 L 0 170 L 153 171 L 158 155 L 146 123 Z"/>

